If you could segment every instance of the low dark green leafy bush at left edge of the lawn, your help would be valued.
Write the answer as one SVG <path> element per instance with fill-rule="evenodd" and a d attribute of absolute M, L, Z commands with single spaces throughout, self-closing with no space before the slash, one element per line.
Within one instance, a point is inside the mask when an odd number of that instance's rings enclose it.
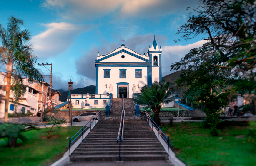
<path fill-rule="evenodd" d="M 15 147 L 18 138 L 23 142 L 27 141 L 26 137 L 21 133 L 29 130 L 39 129 L 26 124 L 2 123 L 0 124 L 0 138 L 7 138 L 7 145 L 9 147 Z"/>

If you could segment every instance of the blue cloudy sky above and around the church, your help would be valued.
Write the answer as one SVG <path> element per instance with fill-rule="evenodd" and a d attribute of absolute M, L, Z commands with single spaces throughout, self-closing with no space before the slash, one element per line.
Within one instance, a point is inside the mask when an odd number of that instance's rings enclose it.
<path fill-rule="evenodd" d="M 179 26 L 189 17 L 188 6 L 198 0 L 9 0 L 0 1 L 0 24 L 7 26 L 10 16 L 24 20 L 32 33 L 30 43 L 38 63 L 52 63 L 52 86 L 67 90 L 95 85 L 97 53 L 125 46 L 146 53 L 155 39 L 162 47 L 162 76 L 189 50 L 204 44 L 202 35 L 181 39 Z M 35 65 L 49 82 L 49 71 Z"/>

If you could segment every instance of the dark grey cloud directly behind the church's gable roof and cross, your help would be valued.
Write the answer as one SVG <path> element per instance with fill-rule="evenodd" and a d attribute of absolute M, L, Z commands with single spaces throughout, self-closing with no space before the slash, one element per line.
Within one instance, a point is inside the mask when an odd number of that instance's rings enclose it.
<path fill-rule="evenodd" d="M 116 40 L 118 43 L 108 43 L 107 41 L 103 41 L 101 46 L 92 47 L 87 53 L 84 53 L 84 55 L 76 61 L 77 74 L 94 79 L 96 76 L 95 59 L 97 59 L 97 53 L 99 52 L 104 55 L 110 53 L 113 49 L 119 48 L 121 46 L 119 38 Z M 143 54 L 148 51 L 149 45 L 152 45 L 153 40 L 152 34 L 135 35 L 125 41 L 125 46 L 133 49 L 137 53 Z M 159 47 L 160 45 L 163 46 L 166 37 L 158 36 L 156 41 L 159 44 Z"/>

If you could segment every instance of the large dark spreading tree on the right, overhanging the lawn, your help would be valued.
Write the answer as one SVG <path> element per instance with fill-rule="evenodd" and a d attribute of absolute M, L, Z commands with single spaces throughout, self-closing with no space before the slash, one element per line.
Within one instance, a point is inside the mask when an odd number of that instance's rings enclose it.
<path fill-rule="evenodd" d="M 192 10 L 190 17 L 177 32 L 182 39 L 175 42 L 203 35 L 205 43 L 191 49 L 171 70 L 182 70 L 176 83 L 189 87 L 187 94 L 208 114 L 212 134 L 217 135 L 214 119 L 228 104 L 228 94 L 255 93 L 256 4 L 200 0 L 199 5 L 187 8 Z"/>

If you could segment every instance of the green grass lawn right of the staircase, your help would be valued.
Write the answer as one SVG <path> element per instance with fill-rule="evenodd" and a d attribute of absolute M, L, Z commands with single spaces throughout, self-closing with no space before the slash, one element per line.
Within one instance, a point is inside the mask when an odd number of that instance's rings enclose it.
<path fill-rule="evenodd" d="M 225 126 L 219 136 L 210 135 L 200 122 L 161 126 L 174 146 L 174 152 L 187 166 L 255 166 L 256 146 L 246 138 L 247 126 Z M 222 137 L 222 139 L 219 139 Z"/>

